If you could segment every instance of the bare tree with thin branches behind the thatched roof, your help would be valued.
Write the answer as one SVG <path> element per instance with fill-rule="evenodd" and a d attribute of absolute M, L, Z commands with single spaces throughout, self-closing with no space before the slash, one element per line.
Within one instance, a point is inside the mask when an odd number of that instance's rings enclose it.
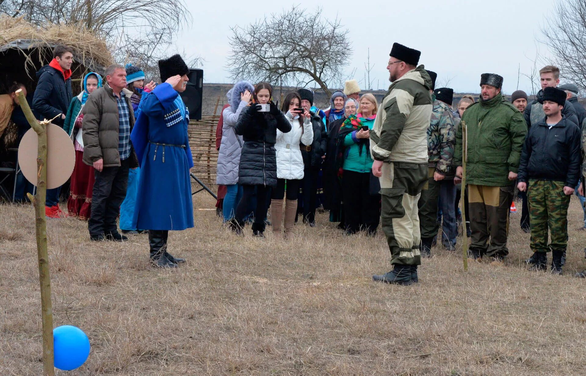
<path fill-rule="evenodd" d="M 168 52 L 182 26 L 192 22 L 183 0 L 0 0 L 0 12 L 37 25 L 93 30 L 112 46 L 116 61 L 157 73 L 156 60 Z"/>

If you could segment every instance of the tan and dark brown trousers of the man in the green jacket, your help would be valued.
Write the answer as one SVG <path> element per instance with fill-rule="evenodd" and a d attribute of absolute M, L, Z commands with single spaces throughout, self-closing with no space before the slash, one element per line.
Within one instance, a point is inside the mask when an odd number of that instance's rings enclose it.
<path fill-rule="evenodd" d="M 513 186 L 468 184 L 468 213 L 472 231 L 470 249 L 491 257 L 509 254 L 507 236 L 512 200 Z"/>

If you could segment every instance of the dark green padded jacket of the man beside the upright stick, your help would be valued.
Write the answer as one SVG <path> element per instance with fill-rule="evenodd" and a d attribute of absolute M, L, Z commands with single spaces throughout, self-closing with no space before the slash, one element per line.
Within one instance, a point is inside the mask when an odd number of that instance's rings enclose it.
<path fill-rule="evenodd" d="M 456 133 L 454 164 L 462 166 L 462 128 L 468 129 L 466 183 L 505 187 L 515 184 L 509 172 L 517 172 L 527 125 L 502 94 L 476 102 L 466 109 Z"/>

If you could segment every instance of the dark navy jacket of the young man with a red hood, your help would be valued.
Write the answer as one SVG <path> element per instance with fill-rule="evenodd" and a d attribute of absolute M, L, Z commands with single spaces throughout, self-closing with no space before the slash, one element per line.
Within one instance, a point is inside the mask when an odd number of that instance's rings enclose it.
<path fill-rule="evenodd" d="M 33 108 L 40 116 L 52 119 L 59 114 L 67 114 L 67 108 L 73 94 L 71 93 L 71 77 L 63 79 L 63 73 L 48 65 L 37 72 L 38 83 L 33 97 Z M 57 117 L 53 124 L 63 127 L 63 119 Z"/>

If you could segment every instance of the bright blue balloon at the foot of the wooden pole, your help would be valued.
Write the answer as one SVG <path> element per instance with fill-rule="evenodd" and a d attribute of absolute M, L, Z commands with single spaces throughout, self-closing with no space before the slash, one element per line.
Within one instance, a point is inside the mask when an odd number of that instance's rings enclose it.
<path fill-rule="evenodd" d="M 79 327 L 63 325 L 53 329 L 55 368 L 75 370 L 90 355 L 90 340 Z"/>

